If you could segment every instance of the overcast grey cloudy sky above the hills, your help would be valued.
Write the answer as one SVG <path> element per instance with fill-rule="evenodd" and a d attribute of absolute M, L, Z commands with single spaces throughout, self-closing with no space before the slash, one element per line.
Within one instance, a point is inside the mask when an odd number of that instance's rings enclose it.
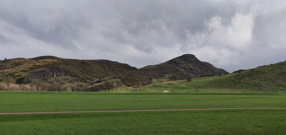
<path fill-rule="evenodd" d="M 285 0 L 0 0 L 0 59 L 136 68 L 194 54 L 228 72 L 286 60 Z"/>

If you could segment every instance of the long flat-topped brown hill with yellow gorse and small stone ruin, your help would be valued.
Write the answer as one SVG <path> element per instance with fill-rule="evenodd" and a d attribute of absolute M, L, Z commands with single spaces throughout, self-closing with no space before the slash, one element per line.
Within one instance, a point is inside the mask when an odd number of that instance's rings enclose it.
<path fill-rule="evenodd" d="M 128 64 L 102 59 L 62 59 L 54 56 L 14 58 L 1 61 L 0 82 L 27 84 L 31 80 L 42 79 L 50 84 L 88 83 L 136 69 Z"/>

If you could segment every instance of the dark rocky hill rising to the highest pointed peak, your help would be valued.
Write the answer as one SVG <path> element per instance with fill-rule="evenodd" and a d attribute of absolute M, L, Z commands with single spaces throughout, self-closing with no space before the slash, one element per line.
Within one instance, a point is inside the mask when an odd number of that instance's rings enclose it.
<path fill-rule="evenodd" d="M 197 78 L 200 76 L 215 76 L 218 74 L 229 74 L 223 69 L 214 67 L 212 64 L 198 60 L 195 55 L 184 54 L 164 63 L 149 65 L 138 70 L 102 78 L 93 84 L 105 80 L 120 79 L 126 86 L 143 86 L 155 80 L 183 80 L 188 76 Z"/>

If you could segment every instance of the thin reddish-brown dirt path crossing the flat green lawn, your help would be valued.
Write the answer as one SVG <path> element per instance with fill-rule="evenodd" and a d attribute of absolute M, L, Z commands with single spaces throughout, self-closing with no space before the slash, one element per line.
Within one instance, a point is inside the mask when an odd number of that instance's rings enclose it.
<path fill-rule="evenodd" d="M 53 114 L 53 113 L 82 113 L 82 112 L 146 112 L 146 111 L 226 110 L 226 109 L 286 109 L 286 108 L 195 108 L 195 109 L 117 110 L 117 111 L 73 111 L 73 112 L 9 112 L 9 113 L 0 113 L 0 114 Z"/>

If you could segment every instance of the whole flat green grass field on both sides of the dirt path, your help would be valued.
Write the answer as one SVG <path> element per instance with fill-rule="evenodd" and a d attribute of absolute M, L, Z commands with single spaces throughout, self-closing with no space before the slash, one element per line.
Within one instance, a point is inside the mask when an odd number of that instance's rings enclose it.
<path fill-rule="evenodd" d="M 140 96 L 140 97 L 139 97 Z M 278 93 L 0 92 L 0 112 L 285 108 Z M 286 110 L 0 115 L 1 134 L 286 134 Z"/>

